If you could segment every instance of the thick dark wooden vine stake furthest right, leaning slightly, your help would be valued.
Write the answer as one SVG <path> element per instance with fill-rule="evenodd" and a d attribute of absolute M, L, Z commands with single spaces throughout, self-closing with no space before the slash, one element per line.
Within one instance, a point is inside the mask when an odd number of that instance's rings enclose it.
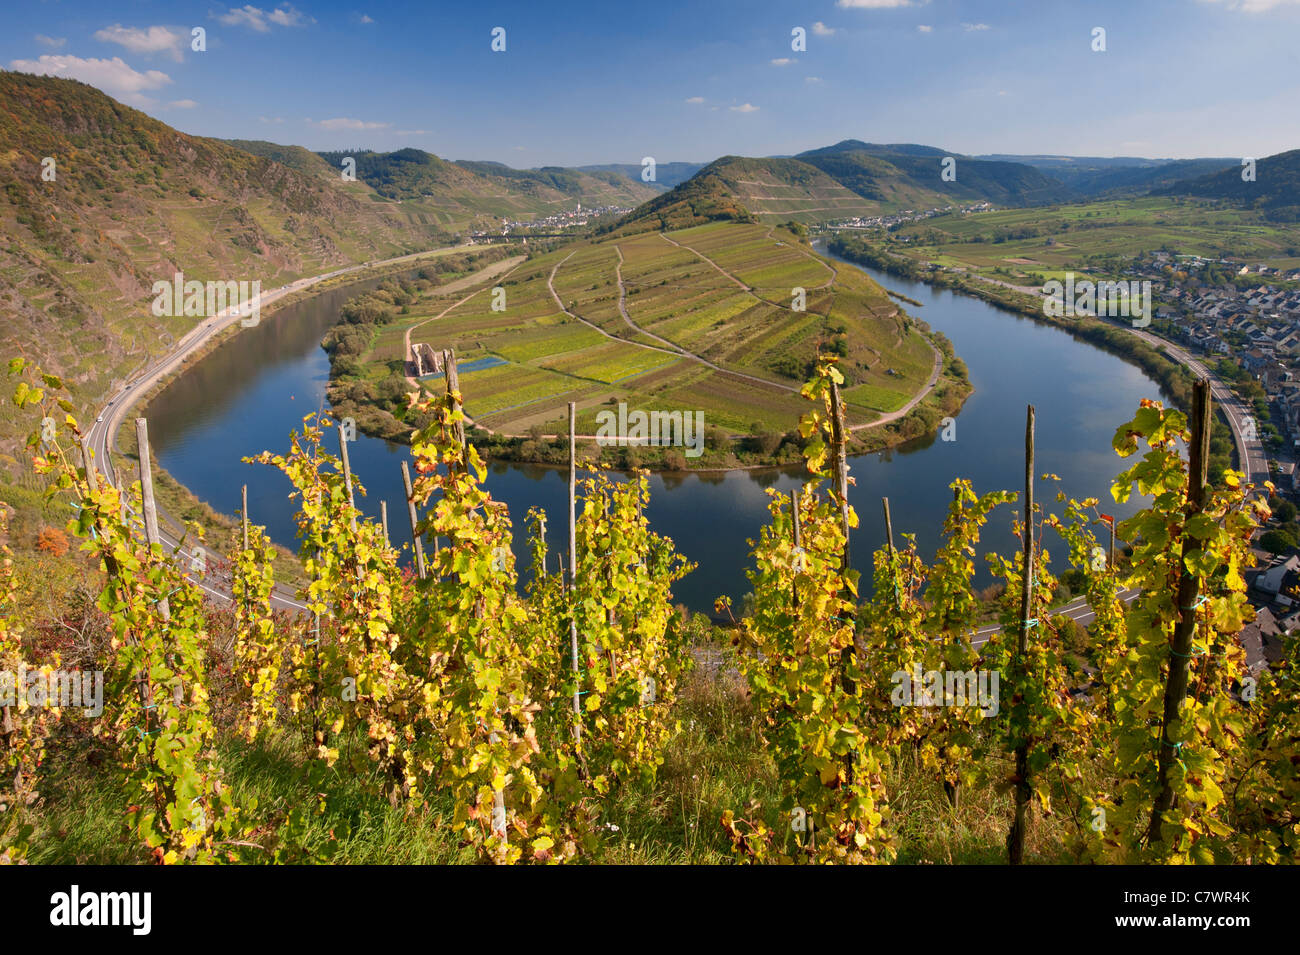
<path fill-rule="evenodd" d="M 1199 378 L 1192 385 L 1192 439 L 1188 442 L 1187 466 L 1187 505 L 1183 526 L 1205 507 L 1205 485 L 1209 477 L 1210 461 L 1210 383 Z M 1195 557 L 1200 546 L 1196 538 L 1183 538 L 1183 568 L 1178 578 L 1179 617 L 1174 624 L 1174 638 L 1169 648 L 1169 681 L 1165 683 L 1165 709 L 1160 722 L 1160 768 L 1156 777 L 1156 799 L 1150 809 L 1150 828 L 1147 839 L 1152 845 L 1161 842 L 1161 822 L 1166 812 L 1174 808 L 1176 796 L 1169 778 L 1178 758 L 1176 743 L 1170 739 L 1170 730 L 1179 721 L 1179 709 L 1187 698 L 1187 682 L 1192 663 L 1192 638 L 1196 635 L 1196 604 L 1200 602 L 1201 578 L 1188 570 L 1188 560 Z"/>

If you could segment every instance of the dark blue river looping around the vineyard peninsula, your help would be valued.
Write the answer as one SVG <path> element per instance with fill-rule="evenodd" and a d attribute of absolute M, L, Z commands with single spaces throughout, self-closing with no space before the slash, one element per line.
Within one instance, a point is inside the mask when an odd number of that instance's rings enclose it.
<path fill-rule="evenodd" d="M 859 266 L 844 262 L 844 268 Z M 884 539 L 883 495 L 890 502 L 894 534 L 915 533 L 922 555 L 930 559 L 954 477 L 971 478 L 980 492 L 1018 489 L 1024 473 L 1028 403 L 1037 413 L 1037 473 L 1061 476 L 1066 494 L 1096 496 L 1108 513 L 1132 513 L 1134 504 L 1108 504 L 1110 481 L 1123 464 L 1110 439 L 1143 398 L 1165 398 L 1152 379 L 1114 355 L 979 299 L 864 272 L 887 288 L 923 303 L 923 308 L 909 311 L 953 340 L 975 394 L 957 418 L 956 440 L 933 435 L 850 460 L 857 478 L 852 502 L 862 522 L 854 535 L 859 568 L 868 568 L 868 552 Z M 225 513 L 238 509 L 239 486 L 247 483 L 252 520 L 266 525 L 274 541 L 296 550 L 287 481 L 272 468 L 247 465 L 240 457 L 263 450 L 287 451 L 289 433 L 302 426 L 304 414 L 321 407 L 329 374 L 321 335 L 337 321 L 343 301 L 372 285 L 337 288 L 282 308 L 172 382 L 148 411 L 150 435 L 162 466 Z M 337 452 L 333 442 L 330 451 Z M 410 456 L 407 448 L 358 435 L 350 453 L 367 489 L 367 496 L 359 499 L 361 507 L 377 520 L 380 500 L 386 499 L 394 541 L 410 543 L 399 468 Z M 647 511 L 653 528 L 698 564 L 677 583 L 677 600 L 711 612 L 714 599 L 727 594 L 738 605 L 749 590 L 746 539 L 757 538 L 767 518 L 764 489 L 789 492 L 800 479 L 798 470 L 653 476 Z M 493 464 L 488 486 L 494 498 L 510 505 L 516 555 L 524 554 L 524 516 L 532 505 L 550 516 L 551 547 L 567 546 L 563 472 Z M 1054 496 L 1056 489 L 1040 485 L 1040 500 L 1053 505 Z M 1010 520 L 1010 508 L 996 511 L 984 543 L 1004 554 L 1015 548 Z M 1062 548 L 1049 550 L 1054 567 L 1062 569 Z M 982 583 L 988 582 L 983 561 L 978 574 Z"/>

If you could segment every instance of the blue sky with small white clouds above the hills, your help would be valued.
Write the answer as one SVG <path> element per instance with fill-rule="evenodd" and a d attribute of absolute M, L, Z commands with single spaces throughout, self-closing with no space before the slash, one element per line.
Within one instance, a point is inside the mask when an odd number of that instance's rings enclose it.
<path fill-rule="evenodd" d="M 199 135 L 515 166 L 1300 147 L 1300 0 L 257 1 L 9 4 L 0 64 Z"/>

